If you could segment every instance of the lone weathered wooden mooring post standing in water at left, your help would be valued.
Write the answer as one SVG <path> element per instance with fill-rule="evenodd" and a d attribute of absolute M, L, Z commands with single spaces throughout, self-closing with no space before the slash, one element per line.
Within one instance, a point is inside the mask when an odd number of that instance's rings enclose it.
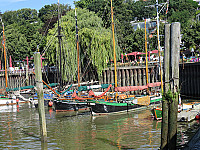
<path fill-rule="evenodd" d="M 43 96 L 43 82 L 42 82 L 42 70 L 41 70 L 41 59 L 40 53 L 36 52 L 34 54 L 34 64 L 35 64 L 35 80 L 38 95 L 38 110 L 39 110 L 39 120 L 40 120 L 40 134 L 41 141 L 47 142 L 47 131 L 46 131 L 46 119 L 44 110 L 44 96 Z"/>

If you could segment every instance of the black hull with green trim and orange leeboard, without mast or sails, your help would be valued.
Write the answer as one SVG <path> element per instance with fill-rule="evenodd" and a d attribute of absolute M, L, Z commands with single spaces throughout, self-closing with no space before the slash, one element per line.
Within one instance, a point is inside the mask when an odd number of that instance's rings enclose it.
<path fill-rule="evenodd" d="M 117 102 L 107 102 L 107 101 L 96 101 L 95 103 L 91 103 L 91 112 L 92 115 L 107 115 L 113 113 L 127 113 L 129 111 L 134 111 L 140 109 L 144 106 L 149 106 L 153 104 L 158 104 L 162 100 L 162 97 L 149 97 L 144 96 L 140 98 L 136 98 L 132 101 L 124 103 Z"/>

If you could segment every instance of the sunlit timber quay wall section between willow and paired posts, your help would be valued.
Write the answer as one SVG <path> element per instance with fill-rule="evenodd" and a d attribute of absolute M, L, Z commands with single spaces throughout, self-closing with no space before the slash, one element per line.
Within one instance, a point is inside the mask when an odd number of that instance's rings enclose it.
<path fill-rule="evenodd" d="M 107 68 L 103 71 L 103 84 L 115 83 L 114 67 Z M 148 67 L 149 83 L 159 82 L 159 67 Z M 117 84 L 118 86 L 138 86 L 146 85 L 146 67 L 145 66 L 125 66 L 117 67 Z"/>

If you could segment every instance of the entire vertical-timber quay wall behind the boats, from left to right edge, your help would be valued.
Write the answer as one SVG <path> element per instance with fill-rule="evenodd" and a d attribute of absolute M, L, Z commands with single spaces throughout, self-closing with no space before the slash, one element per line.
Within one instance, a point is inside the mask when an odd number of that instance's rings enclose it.
<path fill-rule="evenodd" d="M 53 74 L 53 75 L 52 75 Z M 58 82 L 55 78 L 56 72 L 43 71 L 43 80 L 49 82 Z M 35 75 L 32 70 L 28 71 L 28 82 L 26 79 L 26 70 L 18 72 L 8 71 L 8 88 L 18 88 L 27 85 L 35 85 Z M 52 79 L 53 80 L 52 80 Z M 120 66 L 117 67 L 118 86 L 136 86 L 146 85 L 145 66 Z M 97 79 L 93 79 L 97 80 Z M 109 67 L 103 71 L 102 78 L 99 79 L 102 84 L 115 83 L 114 67 Z M 160 82 L 159 67 L 152 65 L 148 67 L 149 83 Z M 185 63 L 179 65 L 179 83 L 180 93 L 185 98 L 200 98 L 200 62 Z M 0 73 L 0 88 L 5 88 L 5 75 Z"/>

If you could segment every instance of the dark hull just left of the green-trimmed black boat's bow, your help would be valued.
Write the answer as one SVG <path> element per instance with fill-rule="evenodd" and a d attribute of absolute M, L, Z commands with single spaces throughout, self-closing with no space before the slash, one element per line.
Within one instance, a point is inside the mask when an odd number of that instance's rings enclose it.
<path fill-rule="evenodd" d="M 54 100 L 53 109 L 56 112 L 67 112 L 67 111 L 78 111 L 86 112 L 89 111 L 89 107 L 85 102 L 74 102 L 67 100 Z"/>

